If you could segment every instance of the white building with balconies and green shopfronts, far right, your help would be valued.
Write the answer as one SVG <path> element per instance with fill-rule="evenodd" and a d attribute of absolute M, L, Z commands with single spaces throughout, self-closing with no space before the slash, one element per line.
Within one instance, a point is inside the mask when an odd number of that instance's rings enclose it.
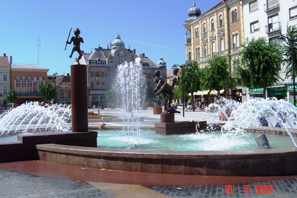
<path fill-rule="evenodd" d="M 243 0 L 242 6 L 245 39 L 265 37 L 269 42 L 280 44 L 279 31 L 286 35 L 287 25 L 297 24 L 297 2 L 294 0 Z M 267 96 L 292 102 L 292 79 L 285 79 L 285 74 L 282 67 L 280 77 L 284 80 L 268 87 Z M 249 87 L 248 96 L 262 97 L 262 92 L 262 87 Z"/>

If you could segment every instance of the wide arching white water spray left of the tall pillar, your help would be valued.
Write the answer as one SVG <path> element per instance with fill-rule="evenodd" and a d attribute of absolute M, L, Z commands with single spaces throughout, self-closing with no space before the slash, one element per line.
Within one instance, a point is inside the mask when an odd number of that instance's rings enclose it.
<path fill-rule="evenodd" d="M 0 135 L 70 130 L 71 107 L 29 102 L 1 115 Z"/>

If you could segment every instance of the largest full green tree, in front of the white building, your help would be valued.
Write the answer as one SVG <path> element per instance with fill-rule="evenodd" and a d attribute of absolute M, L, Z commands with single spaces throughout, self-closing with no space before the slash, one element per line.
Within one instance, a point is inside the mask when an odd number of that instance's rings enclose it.
<path fill-rule="evenodd" d="M 266 98 L 267 87 L 281 79 L 281 51 L 276 43 L 269 43 L 264 37 L 247 39 L 242 47 L 241 64 L 237 67 L 239 83 L 246 87 L 263 87 Z"/>

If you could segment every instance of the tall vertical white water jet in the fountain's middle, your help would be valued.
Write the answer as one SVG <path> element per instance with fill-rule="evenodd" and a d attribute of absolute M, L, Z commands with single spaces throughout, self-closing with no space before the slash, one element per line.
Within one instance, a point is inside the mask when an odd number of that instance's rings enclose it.
<path fill-rule="evenodd" d="M 140 110 L 145 98 L 145 82 L 140 58 L 118 66 L 114 89 L 118 93 L 122 131 L 123 136 L 128 138 L 128 148 L 130 143 L 139 144 Z"/>

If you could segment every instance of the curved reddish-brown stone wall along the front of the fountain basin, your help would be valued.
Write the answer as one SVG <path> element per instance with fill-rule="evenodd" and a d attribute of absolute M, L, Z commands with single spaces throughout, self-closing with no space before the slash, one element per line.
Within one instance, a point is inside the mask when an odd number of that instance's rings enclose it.
<path fill-rule="evenodd" d="M 36 149 L 36 157 L 40 160 L 96 169 L 212 176 L 297 174 L 295 147 L 248 151 L 147 151 L 42 144 Z"/>

